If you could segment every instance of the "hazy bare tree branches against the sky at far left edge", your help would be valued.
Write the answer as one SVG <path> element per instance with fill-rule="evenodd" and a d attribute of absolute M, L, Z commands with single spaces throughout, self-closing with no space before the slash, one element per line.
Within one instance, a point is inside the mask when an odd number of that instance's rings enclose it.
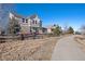
<path fill-rule="evenodd" d="M 14 12 L 13 5 L 12 3 L 0 3 L 0 26 L 5 31 L 9 24 L 9 12 Z"/>

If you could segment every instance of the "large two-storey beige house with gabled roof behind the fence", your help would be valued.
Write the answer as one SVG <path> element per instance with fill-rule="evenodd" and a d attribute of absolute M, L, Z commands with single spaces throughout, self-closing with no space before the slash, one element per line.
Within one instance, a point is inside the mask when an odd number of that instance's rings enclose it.
<path fill-rule="evenodd" d="M 28 17 L 23 17 L 17 14 L 10 13 L 10 22 L 13 21 L 20 26 L 20 34 L 42 33 L 42 22 L 36 14 Z"/>

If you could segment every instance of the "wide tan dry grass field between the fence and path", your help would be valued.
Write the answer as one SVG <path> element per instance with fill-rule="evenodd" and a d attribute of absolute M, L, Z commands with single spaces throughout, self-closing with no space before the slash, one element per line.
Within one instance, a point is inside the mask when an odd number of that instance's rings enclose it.
<path fill-rule="evenodd" d="M 49 60 L 57 37 L 36 40 L 17 40 L 0 43 L 0 60 L 2 61 L 39 61 Z"/>

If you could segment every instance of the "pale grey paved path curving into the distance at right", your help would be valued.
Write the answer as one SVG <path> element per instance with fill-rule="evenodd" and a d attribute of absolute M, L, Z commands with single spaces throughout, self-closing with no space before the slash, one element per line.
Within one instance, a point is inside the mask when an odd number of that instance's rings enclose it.
<path fill-rule="evenodd" d="M 85 52 L 74 41 L 74 36 L 65 37 L 57 42 L 52 61 L 85 61 Z"/>

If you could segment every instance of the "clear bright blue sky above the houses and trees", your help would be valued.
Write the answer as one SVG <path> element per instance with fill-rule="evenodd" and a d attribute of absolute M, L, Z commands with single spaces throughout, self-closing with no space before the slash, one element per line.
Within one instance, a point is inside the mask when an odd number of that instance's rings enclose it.
<path fill-rule="evenodd" d="M 59 24 L 72 26 L 75 30 L 85 24 L 85 4 L 73 3 L 15 3 L 16 13 L 30 16 L 38 14 L 43 26 Z"/>

